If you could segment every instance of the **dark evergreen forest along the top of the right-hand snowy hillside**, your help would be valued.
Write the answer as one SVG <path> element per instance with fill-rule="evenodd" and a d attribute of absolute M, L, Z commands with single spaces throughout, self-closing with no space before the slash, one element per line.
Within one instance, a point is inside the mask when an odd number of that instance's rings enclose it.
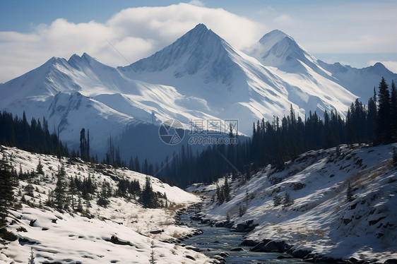
<path fill-rule="evenodd" d="M 237 137 L 230 130 L 230 138 Z M 345 119 L 336 110 L 319 116 L 290 114 L 282 119 L 257 121 L 252 136 L 237 145 L 210 145 L 201 153 L 192 153 L 189 145 L 182 145 L 178 153 L 166 157 L 156 169 L 156 176 L 178 186 L 196 182 L 211 183 L 225 174 L 249 179 L 260 167 L 272 164 L 283 167 L 284 162 L 309 150 L 332 148 L 343 143 L 388 144 L 397 141 L 397 91 L 384 78 L 379 83 L 378 94 L 368 104 L 358 99 L 352 102 Z M 158 165 L 156 165 L 158 167 Z M 222 200 L 222 198 L 221 198 Z"/>

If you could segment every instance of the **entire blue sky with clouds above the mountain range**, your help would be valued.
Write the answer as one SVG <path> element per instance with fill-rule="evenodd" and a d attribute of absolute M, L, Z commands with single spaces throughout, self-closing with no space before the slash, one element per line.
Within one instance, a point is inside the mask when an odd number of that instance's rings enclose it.
<path fill-rule="evenodd" d="M 238 49 L 275 28 L 328 63 L 397 71 L 397 1 L 9 1 L 0 2 L 0 82 L 52 56 L 88 54 L 126 65 L 205 23 Z M 150 8 L 140 8 L 150 6 Z M 105 40 L 104 40 L 105 39 Z"/>

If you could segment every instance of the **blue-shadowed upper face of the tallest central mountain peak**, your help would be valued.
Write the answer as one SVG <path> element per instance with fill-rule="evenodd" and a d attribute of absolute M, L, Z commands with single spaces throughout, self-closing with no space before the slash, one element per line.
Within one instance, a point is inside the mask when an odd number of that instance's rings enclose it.
<path fill-rule="evenodd" d="M 174 43 L 152 56 L 131 64 L 134 71 L 173 71 L 175 78 L 192 75 L 201 71 L 206 83 L 230 78 L 230 52 L 234 50 L 225 40 L 209 30 L 206 25 L 198 24 L 179 37 Z M 126 68 L 119 68 L 126 71 Z"/>

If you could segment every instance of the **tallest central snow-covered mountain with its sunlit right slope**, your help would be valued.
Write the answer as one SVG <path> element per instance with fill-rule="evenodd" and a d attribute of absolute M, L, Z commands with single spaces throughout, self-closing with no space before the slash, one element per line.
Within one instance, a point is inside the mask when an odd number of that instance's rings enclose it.
<path fill-rule="evenodd" d="M 252 122 L 283 116 L 290 105 L 304 112 L 345 112 L 355 95 L 328 80 L 294 80 L 239 52 L 199 24 L 170 46 L 131 66 L 119 67 L 131 79 L 175 87 L 201 112 L 220 119 L 239 119 L 250 134 Z M 302 85 L 304 84 L 304 85 Z"/>

